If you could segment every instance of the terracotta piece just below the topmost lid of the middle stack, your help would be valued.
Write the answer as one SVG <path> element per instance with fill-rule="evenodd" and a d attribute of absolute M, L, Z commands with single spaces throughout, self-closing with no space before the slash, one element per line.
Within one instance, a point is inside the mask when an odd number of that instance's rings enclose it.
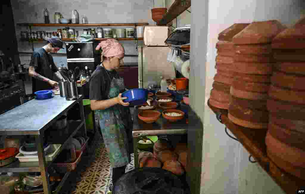
<path fill-rule="evenodd" d="M 242 55 L 270 55 L 272 48 L 270 44 L 261 45 L 235 45 L 235 53 Z"/>

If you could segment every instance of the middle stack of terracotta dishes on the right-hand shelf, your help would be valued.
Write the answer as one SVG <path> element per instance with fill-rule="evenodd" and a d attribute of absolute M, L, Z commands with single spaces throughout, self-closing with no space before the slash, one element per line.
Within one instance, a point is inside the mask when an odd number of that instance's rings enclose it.
<path fill-rule="evenodd" d="M 266 102 L 274 65 L 271 41 L 284 29 L 276 20 L 253 22 L 233 37 L 236 74 L 228 109 L 228 118 L 233 123 L 247 128 L 267 128 Z"/>

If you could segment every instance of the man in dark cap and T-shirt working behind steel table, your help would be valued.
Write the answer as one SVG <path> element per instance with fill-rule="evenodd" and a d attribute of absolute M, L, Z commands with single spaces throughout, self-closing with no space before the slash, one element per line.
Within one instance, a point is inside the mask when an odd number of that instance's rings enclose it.
<path fill-rule="evenodd" d="M 58 37 L 46 38 L 47 45 L 34 50 L 29 67 L 29 75 L 33 77 L 33 93 L 39 90 L 51 90 L 58 85 L 54 81 L 53 73 L 61 80 L 59 73 L 50 52 L 56 53 L 63 48 L 63 41 Z"/>

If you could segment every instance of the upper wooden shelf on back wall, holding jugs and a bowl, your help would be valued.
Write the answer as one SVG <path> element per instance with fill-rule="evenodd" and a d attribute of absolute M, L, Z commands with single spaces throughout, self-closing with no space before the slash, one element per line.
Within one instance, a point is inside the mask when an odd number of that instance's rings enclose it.
<path fill-rule="evenodd" d="M 18 26 L 45 26 L 45 27 L 101 27 L 101 26 L 148 26 L 149 23 L 17 23 Z"/>

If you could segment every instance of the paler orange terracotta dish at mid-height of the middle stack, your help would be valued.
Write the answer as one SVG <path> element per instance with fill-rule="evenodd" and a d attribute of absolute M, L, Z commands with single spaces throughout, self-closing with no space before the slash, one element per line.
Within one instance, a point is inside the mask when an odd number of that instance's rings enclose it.
<path fill-rule="evenodd" d="M 237 98 L 248 99 L 248 100 L 266 100 L 268 98 L 268 93 L 239 90 L 239 89 L 235 89 L 232 86 L 230 88 L 230 94 Z"/>

